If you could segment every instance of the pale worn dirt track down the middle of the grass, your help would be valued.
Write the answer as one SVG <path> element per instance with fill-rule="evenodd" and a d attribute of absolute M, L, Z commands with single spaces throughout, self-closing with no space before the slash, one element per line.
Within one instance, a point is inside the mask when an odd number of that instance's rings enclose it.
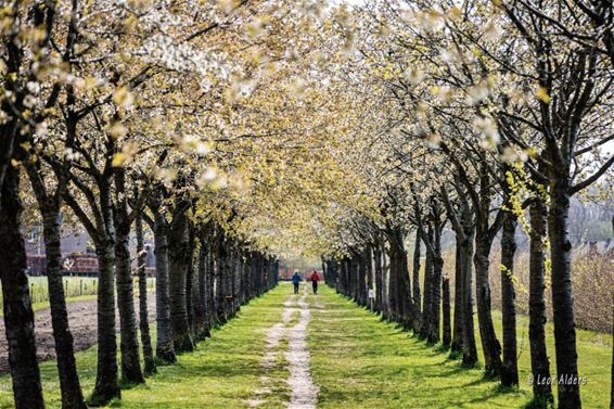
<path fill-rule="evenodd" d="M 280 341 L 287 337 L 287 350 L 284 352 L 290 376 L 286 380 L 290 389 L 290 409 L 316 409 L 318 402 L 319 388 L 314 384 L 310 373 L 309 349 L 307 348 L 307 324 L 309 323 L 309 304 L 306 302 L 307 286 L 303 287 L 303 294 L 297 299 L 296 295 L 291 295 L 283 303 L 284 310 L 282 321 L 276 323 L 267 332 L 267 349 L 263 357 L 261 367 L 270 369 L 276 365 L 280 356 Z M 298 316 L 298 322 L 289 327 Z M 251 400 L 250 406 L 257 407 L 266 400 L 265 395 L 270 393 L 271 380 L 267 375 L 260 376 L 263 387 L 258 391 L 258 398 Z"/>

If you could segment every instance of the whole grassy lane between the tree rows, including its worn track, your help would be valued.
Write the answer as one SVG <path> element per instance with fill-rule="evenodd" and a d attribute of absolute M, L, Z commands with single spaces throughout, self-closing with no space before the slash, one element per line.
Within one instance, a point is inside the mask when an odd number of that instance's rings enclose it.
<path fill-rule="evenodd" d="M 462 368 L 446 352 L 382 322 L 328 286 L 317 296 L 291 293 L 291 285 L 281 283 L 243 306 L 194 353 L 159 367 L 146 385 L 125 389 L 121 407 L 519 408 L 530 399 L 528 384 L 502 391 L 482 370 Z M 521 345 L 525 328 L 526 320 L 519 330 Z M 551 331 L 549 327 L 549 345 Z M 592 380 L 585 386 L 586 405 L 606 408 L 609 372 L 599 363 L 611 359 L 609 348 L 588 332 L 580 331 L 578 340 L 580 370 Z M 520 370 L 527 376 L 528 357 L 523 355 Z M 93 386 L 94 359 L 95 348 L 77 354 L 85 391 Z M 41 365 L 52 408 L 60 398 L 54 369 L 52 361 Z M 0 407 L 10 408 L 8 375 L 0 384 Z"/>

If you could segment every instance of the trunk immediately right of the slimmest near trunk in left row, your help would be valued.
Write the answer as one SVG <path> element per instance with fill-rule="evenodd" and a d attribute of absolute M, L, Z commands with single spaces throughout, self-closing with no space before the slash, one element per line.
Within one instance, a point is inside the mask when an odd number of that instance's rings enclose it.
<path fill-rule="evenodd" d="M 168 227 L 164 215 L 154 209 L 155 241 L 155 321 L 157 359 L 172 363 L 177 360 L 172 343 L 172 323 L 170 322 L 170 298 L 168 291 Z"/>

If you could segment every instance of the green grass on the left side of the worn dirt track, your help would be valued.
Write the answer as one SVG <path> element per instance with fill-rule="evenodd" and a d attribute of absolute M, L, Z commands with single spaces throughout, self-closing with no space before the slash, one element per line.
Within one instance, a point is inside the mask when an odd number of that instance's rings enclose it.
<path fill-rule="evenodd" d="M 241 307 L 213 337 L 197 345 L 192 354 L 179 356 L 178 363 L 158 368 L 146 385 L 121 392 L 123 408 L 246 408 L 260 388 L 260 360 L 265 350 L 266 331 L 281 320 L 282 303 L 287 289 L 278 287 L 264 297 Z M 154 336 L 155 338 L 155 336 Z M 119 341 L 119 340 L 118 340 Z M 282 355 L 283 356 L 283 355 Z M 89 394 L 95 381 L 95 347 L 77 354 L 81 386 Z M 278 362 L 266 375 L 279 387 L 267 395 L 260 408 L 282 408 L 287 400 L 284 380 L 285 361 Z M 44 396 L 49 408 L 60 408 L 60 384 L 55 361 L 41 365 Z M 0 408 L 12 408 L 13 396 L 9 375 L 0 378 Z"/>

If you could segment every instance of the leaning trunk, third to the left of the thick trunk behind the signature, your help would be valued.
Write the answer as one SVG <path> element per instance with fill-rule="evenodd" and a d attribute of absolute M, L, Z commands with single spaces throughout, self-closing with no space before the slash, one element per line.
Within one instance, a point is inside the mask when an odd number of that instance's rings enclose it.
<path fill-rule="evenodd" d="M 477 223 L 481 225 L 479 222 Z M 477 323 L 484 352 L 484 369 L 488 376 L 501 374 L 501 344 L 497 340 L 490 309 L 490 284 L 488 269 L 490 266 L 490 240 L 485 230 L 477 230 L 475 235 L 475 295 L 477 301 Z"/>

